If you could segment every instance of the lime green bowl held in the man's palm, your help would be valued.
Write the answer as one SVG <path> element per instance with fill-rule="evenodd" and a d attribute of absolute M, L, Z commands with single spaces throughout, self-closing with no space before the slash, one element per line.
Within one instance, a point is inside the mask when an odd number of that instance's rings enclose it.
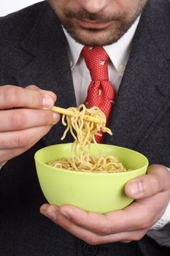
<path fill-rule="evenodd" d="M 56 159 L 69 158 L 71 146 L 72 143 L 47 146 L 34 156 L 39 184 L 50 204 L 70 204 L 104 214 L 125 208 L 133 201 L 125 195 L 124 187 L 132 178 L 146 173 L 148 160 L 144 155 L 128 148 L 99 144 L 104 156 L 114 155 L 131 169 L 123 173 L 83 173 L 47 165 Z M 95 144 L 91 145 L 90 154 L 98 154 Z"/>

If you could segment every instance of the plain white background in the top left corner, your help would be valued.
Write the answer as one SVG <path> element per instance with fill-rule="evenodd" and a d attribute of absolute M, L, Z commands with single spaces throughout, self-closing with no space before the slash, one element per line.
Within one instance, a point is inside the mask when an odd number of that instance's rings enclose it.
<path fill-rule="evenodd" d="M 42 0 L 0 0 L 0 16 L 18 11 Z"/>

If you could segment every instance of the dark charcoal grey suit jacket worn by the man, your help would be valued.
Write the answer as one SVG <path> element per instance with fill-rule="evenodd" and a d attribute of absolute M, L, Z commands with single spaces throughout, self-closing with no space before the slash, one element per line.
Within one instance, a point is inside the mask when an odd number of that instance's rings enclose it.
<path fill-rule="evenodd" d="M 47 2 L 0 18 L 0 84 L 36 84 L 76 106 L 66 39 Z M 151 0 L 142 13 L 104 143 L 133 148 L 150 164 L 170 167 L 170 15 L 168 0 Z M 89 246 L 39 214 L 45 197 L 34 153 L 61 143 L 62 124 L 0 173 L 0 255 L 166 255 L 144 236 L 130 244 Z M 72 141 L 70 135 L 65 142 Z M 169 252 L 167 252 L 169 253 Z M 167 254 L 168 255 L 168 254 Z"/>

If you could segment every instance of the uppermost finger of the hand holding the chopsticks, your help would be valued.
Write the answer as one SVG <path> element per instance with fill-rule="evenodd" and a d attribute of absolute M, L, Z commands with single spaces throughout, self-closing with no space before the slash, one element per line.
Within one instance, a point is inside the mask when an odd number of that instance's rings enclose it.
<path fill-rule="evenodd" d="M 54 98 L 39 90 L 27 90 L 19 86 L 0 87 L 0 109 L 10 108 L 42 108 L 50 109 Z"/>

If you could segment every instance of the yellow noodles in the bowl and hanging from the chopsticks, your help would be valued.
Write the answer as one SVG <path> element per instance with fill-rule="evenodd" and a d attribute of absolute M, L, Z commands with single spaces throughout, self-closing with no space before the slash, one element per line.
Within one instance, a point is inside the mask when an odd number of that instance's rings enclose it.
<path fill-rule="evenodd" d="M 106 125 L 104 113 L 97 107 L 85 108 L 85 105 L 80 105 L 79 108 L 69 108 L 74 111 L 74 116 L 62 117 L 62 123 L 66 127 L 61 140 L 66 137 L 67 132 L 72 133 L 74 143 L 71 148 L 70 159 L 60 159 L 50 162 L 49 165 L 66 170 L 80 170 L 82 172 L 96 173 L 117 173 L 125 171 L 125 167 L 118 161 L 116 157 L 104 157 L 101 152 L 98 156 L 90 156 L 90 143 L 96 143 L 95 136 L 101 136 L 98 131 L 107 132 L 112 135 L 112 132 Z M 83 120 L 83 116 L 93 116 L 100 118 L 99 124 Z M 97 144 L 97 143 L 96 143 Z"/>

